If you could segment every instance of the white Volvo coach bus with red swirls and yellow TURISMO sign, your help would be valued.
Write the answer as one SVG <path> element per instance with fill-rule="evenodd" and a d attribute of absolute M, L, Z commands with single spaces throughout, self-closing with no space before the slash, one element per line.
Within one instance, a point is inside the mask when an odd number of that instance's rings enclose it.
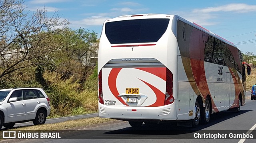
<path fill-rule="evenodd" d="M 106 20 L 98 49 L 100 118 L 197 126 L 245 105 L 242 53 L 230 41 L 176 15 Z"/>

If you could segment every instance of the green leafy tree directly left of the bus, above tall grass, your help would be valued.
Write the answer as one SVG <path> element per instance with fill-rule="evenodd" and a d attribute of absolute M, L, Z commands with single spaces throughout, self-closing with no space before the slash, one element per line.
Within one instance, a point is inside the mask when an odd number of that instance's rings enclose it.
<path fill-rule="evenodd" d="M 53 51 L 47 56 L 53 61 L 57 76 L 83 83 L 94 69 L 98 57 L 98 39 L 95 32 L 85 29 L 72 30 L 68 27 L 62 33 L 52 34 L 51 42 L 45 45 Z"/>

